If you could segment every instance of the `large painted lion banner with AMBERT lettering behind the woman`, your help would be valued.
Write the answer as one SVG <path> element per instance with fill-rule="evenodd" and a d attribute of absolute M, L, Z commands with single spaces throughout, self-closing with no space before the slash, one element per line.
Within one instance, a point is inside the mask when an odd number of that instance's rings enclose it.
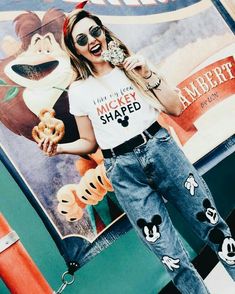
<path fill-rule="evenodd" d="M 76 3 L 0 4 L 2 158 L 23 180 L 70 269 L 75 262 L 71 271 L 131 228 L 99 151 L 84 158 L 48 158 L 35 142 L 45 132 L 60 142 L 79 138 L 67 96 L 74 73 L 61 43 L 65 15 Z M 226 140 L 234 142 L 234 36 L 210 1 L 99 0 L 86 10 L 98 14 L 178 89 L 184 112 L 161 114 L 160 123 L 192 163 Z"/>

